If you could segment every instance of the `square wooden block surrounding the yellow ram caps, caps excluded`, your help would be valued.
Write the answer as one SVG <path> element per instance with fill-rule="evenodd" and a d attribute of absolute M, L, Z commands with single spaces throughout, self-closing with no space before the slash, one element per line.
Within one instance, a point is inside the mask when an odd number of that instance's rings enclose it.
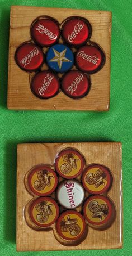
<path fill-rule="evenodd" d="M 25 205 L 32 199 L 24 185 L 24 177 L 34 165 L 54 164 L 58 152 L 67 147 L 81 151 L 86 164 L 100 163 L 110 168 L 114 177 L 108 192 L 115 204 L 116 218 L 112 226 L 104 231 L 88 227 L 86 239 L 77 246 L 64 246 L 54 237 L 53 231 L 40 232 L 27 226 L 23 215 Z M 122 170 L 121 143 L 33 143 L 17 146 L 17 251 L 87 250 L 122 247 Z"/>

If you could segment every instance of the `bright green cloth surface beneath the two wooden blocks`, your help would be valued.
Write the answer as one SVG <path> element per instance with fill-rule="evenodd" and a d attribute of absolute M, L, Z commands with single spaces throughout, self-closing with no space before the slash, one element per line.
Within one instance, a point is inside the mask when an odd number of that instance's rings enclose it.
<path fill-rule="evenodd" d="M 8 32 L 10 6 L 29 5 L 112 11 L 111 99 L 107 113 L 78 111 L 7 110 Z M 0 255 L 16 255 L 16 146 L 27 142 L 121 141 L 124 185 L 124 248 L 118 250 L 63 251 L 63 255 L 132 255 L 131 153 L 132 94 L 131 0 L 0 0 Z M 105 86 L 105 84 L 104 84 Z M 117 191 L 118 192 L 118 191 Z M 100 239 L 100 237 L 98 237 Z M 62 252 L 19 255 L 62 255 Z"/>

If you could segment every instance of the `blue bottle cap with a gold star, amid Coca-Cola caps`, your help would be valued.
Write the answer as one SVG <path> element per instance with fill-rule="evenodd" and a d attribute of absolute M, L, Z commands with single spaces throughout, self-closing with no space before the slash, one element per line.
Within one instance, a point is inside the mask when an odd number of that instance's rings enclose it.
<path fill-rule="evenodd" d="M 63 73 L 72 68 L 74 56 L 64 44 L 55 44 L 49 48 L 46 60 L 50 69 Z"/>

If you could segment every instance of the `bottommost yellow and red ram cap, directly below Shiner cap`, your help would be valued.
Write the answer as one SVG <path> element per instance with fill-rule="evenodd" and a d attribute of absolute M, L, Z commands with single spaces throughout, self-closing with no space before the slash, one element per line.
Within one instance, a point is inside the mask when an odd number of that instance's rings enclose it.
<path fill-rule="evenodd" d="M 86 230 L 86 223 L 81 213 L 76 210 L 67 210 L 59 216 L 56 230 L 63 239 L 78 240 Z"/>

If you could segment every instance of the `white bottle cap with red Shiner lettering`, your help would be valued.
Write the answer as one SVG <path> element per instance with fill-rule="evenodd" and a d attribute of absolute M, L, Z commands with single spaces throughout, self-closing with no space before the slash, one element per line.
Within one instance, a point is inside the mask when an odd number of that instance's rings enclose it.
<path fill-rule="evenodd" d="M 57 197 L 63 207 L 74 209 L 82 203 L 84 199 L 84 189 L 77 181 L 72 179 L 64 181 L 58 187 Z"/>

